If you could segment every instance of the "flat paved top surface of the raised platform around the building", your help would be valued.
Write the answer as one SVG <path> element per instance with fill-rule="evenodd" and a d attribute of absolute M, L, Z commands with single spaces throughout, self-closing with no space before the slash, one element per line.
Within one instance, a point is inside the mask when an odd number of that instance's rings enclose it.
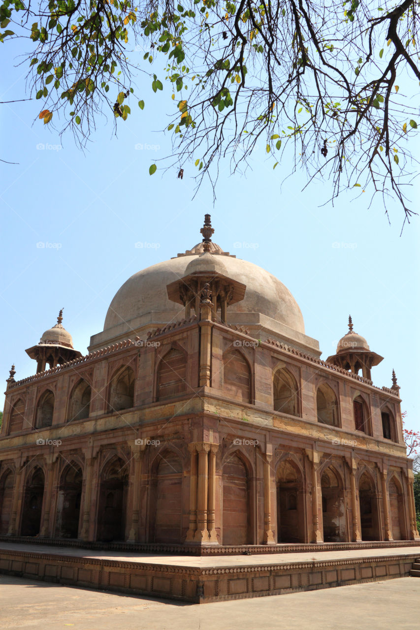
<path fill-rule="evenodd" d="M 59 556 L 76 556 L 78 558 L 101 558 L 143 562 L 150 564 L 170 564 L 207 568 L 214 566 L 237 566 L 254 564 L 282 564 L 291 562 L 308 562 L 312 560 L 337 560 L 340 558 L 378 558 L 380 556 L 411 556 L 420 558 L 420 547 L 384 547 L 383 549 L 346 549 L 346 551 L 300 551 L 296 553 L 257 554 L 255 556 L 165 556 L 153 553 L 136 553 L 131 551 L 103 551 L 80 549 L 78 547 L 58 547 L 39 544 L 23 544 L 21 542 L 0 541 L 0 550 L 30 551 L 33 553 L 54 554 Z M 420 628 L 420 622 L 419 622 Z"/>

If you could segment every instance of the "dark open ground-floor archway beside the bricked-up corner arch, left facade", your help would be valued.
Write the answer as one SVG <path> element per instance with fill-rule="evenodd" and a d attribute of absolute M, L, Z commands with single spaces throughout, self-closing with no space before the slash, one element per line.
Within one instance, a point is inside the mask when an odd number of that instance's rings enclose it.
<path fill-rule="evenodd" d="M 98 532 L 102 542 L 124 541 L 128 475 L 125 462 L 114 457 L 102 471 L 98 503 Z"/>

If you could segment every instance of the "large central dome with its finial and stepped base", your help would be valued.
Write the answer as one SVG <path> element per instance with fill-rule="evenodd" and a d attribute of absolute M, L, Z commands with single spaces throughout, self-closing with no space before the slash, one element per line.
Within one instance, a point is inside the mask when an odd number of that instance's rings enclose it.
<path fill-rule="evenodd" d="M 206 215 L 201 243 L 132 275 L 115 294 L 103 333 L 91 338 L 89 349 L 96 350 L 134 332 L 139 334 L 143 327 L 146 331 L 153 324 L 180 321 L 184 309 L 174 303 L 175 298 L 168 297 L 168 285 L 194 273 L 209 272 L 246 286 L 244 297 L 229 304 L 227 323 L 247 326 L 252 336 L 253 326 L 255 333 L 277 331 L 283 340 L 296 341 L 306 351 L 319 355 L 318 342 L 305 335 L 303 316 L 291 292 L 260 266 L 223 251 L 211 241 L 213 232 L 210 215 Z"/>

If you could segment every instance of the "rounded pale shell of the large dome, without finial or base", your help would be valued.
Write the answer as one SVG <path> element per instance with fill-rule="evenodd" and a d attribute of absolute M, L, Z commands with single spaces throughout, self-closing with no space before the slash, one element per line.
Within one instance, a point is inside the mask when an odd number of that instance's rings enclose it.
<path fill-rule="evenodd" d="M 209 254 L 204 256 L 207 258 Z M 174 321 L 174 311 L 178 311 L 178 319 L 181 319 L 184 316 L 184 307 L 168 299 L 166 285 L 184 277 L 187 265 L 189 268 L 201 268 L 199 258 L 199 255 L 191 254 L 178 256 L 132 275 L 112 300 L 103 330 L 107 331 L 123 323 L 129 329 L 132 319 L 156 311 L 162 314 L 167 312 L 168 321 Z M 300 308 L 280 280 L 254 263 L 233 256 L 215 253 L 211 255 L 211 259 L 214 265 L 212 270 L 242 282 L 247 287 L 245 298 L 232 304 L 228 309 L 230 313 L 261 313 L 298 333 L 305 333 Z"/>

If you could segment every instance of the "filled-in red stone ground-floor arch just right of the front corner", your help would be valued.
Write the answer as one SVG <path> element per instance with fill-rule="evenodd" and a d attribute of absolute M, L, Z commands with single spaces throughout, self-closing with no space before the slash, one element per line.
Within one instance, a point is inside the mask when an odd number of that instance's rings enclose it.
<path fill-rule="evenodd" d="M 252 544 L 250 478 L 238 453 L 228 457 L 222 469 L 222 544 Z"/>

